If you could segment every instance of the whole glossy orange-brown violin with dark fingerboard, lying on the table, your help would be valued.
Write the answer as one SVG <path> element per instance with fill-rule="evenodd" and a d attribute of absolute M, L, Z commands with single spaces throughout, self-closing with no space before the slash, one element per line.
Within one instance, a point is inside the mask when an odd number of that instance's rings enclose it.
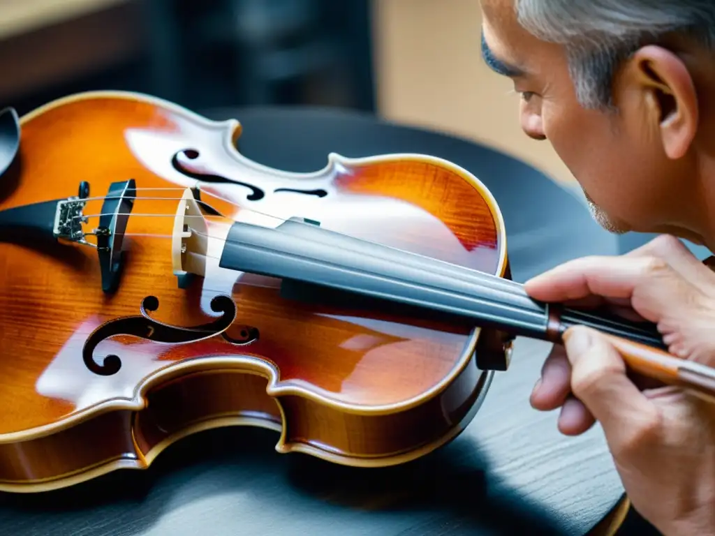
<path fill-rule="evenodd" d="M 516 337 L 586 324 L 703 393 L 651 324 L 535 302 L 488 189 L 421 154 L 252 162 L 136 93 L 0 112 L 0 490 L 146 469 L 214 427 L 380 467 L 462 432 Z"/>

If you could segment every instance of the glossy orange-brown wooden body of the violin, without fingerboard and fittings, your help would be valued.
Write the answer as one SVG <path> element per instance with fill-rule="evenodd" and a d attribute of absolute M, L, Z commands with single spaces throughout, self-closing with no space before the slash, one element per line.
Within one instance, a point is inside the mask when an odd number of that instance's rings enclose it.
<path fill-rule="evenodd" d="M 144 469 L 182 437 L 233 425 L 275 430 L 278 452 L 358 467 L 403 463 L 464 430 L 493 369 L 506 367 L 508 349 L 487 346 L 496 337 L 486 329 L 295 299 L 275 278 L 222 269 L 220 253 L 210 253 L 227 235 L 226 219 L 272 227 L 301 217 L 508 277 L 498 206 L 454 164 L 330 154 L 325 169 L 282 172 L 240 154 L 238 121 L 131 93 L 74 95 L 19 127 L 16 157 L 0 176 L 0 215 L 89 185 L 82 214 L 91 232 L 113 183 L 133 181 L 136 196 L 114 242 L 113 285 L 98 248 L 0 225 L 0 490 Z M 189 281 L 172 264 L 184 189 L 224 216 L 207 218 L 205 275 Z M 230 326 L 192 335 L 217 322 L 217 296 L 235 304 Z M 157 342 L 157 329 L 187 340 Z M 117 356 L 121 368 L 93 372 L 83 352 L 97 364 Z M 479 363 L 480 352 L 492 364 Z"/>

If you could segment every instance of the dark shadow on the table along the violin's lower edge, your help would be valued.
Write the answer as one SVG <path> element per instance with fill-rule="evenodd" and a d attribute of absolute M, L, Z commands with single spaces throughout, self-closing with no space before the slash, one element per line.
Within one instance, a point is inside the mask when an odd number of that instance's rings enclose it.
<path fill-rule="evenodd" d="M 167 505 L 176 504 L 175 486 L 184 488 L 182 498 L 187 499 L 188 482 L 196 499 L 267 488 L 276 501 L 305 501 L 307 496 L 335 510 L 337 523 L 344 510 L 403 520 L 415 515 L 414 525 L 406 524 L 395 536 L 568 536 L 556 517 L 490 477 L 469 437 L 416 462 L 380 470 L 279 455 L 273 449 L 276 440 L 275 432 L 260 429 L 210 430 L 172 445 L 147 471 L 115 472 L 40 495 L 3 494 L 0 527 L 14 536 L 142 534 L 167 513 Z"/>

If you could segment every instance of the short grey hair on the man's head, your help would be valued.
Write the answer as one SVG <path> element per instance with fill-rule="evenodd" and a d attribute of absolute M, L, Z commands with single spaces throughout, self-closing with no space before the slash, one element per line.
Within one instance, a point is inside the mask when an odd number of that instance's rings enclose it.
<path fill-rule="evenodd" d="M 715 0 L 515 0 L 518 21 L 566 47 L 578 101 L 613 108 L 613 75 L 644 44 L 680 33 L 713 50 Z"/>

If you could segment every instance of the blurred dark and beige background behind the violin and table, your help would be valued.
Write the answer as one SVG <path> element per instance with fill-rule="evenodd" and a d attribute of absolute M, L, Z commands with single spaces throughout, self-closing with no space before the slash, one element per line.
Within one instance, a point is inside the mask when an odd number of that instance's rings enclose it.
<path fill-rule="evenodd" d="M 484 142 L 567 184 L 480 59 L 478 0 L 0 0 L 0 106 L 142 91 L 194 111 L 331 106 Z"/>

